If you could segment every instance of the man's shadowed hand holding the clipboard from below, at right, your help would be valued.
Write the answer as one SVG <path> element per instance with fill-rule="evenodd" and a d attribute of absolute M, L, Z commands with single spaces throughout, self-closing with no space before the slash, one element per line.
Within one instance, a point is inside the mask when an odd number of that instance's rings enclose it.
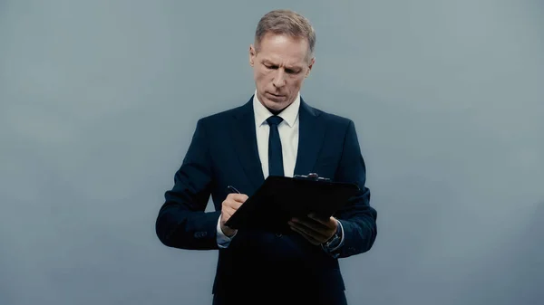
<path fill-rule="evenodd" d="M 307 218 L 293 218 L 288 224 L 293 231 L 315 245 L 327 242 L 335 235 L 338 228 L 335 217 L 322 219 L 313 214 L 308 214 Z"/>

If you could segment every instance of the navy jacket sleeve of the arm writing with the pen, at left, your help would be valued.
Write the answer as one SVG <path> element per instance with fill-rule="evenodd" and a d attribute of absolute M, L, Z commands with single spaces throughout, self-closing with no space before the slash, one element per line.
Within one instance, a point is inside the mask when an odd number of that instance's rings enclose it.
<path fill-rule="evenodd" d="M 212 186 L 212 166 L 205 124 L 199 119 L 174 186 L 164 195 L 155 222 L 161 243 L 192 250 L 218 249 L 216 227 L 220 211 L 204 212 Z"/>

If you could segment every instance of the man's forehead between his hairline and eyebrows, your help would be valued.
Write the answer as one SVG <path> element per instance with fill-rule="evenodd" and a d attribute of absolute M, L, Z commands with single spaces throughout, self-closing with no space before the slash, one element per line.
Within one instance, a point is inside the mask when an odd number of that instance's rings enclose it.
<path fill-rule="evenodd" d="M 304 38 L 267 33 L 259 43 L 258 52 L 263 60 L 299 65 L 306 62 L 309 46 Z"/>

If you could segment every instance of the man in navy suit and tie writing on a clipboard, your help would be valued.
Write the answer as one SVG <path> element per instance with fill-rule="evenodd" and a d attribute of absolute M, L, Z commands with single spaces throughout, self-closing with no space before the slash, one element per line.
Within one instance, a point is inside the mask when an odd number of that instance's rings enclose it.
<path fill-rule="evenodd" d="M 338 258 L 376 237 L 354 123 L 310 107 L 299 91 L 316 34 L 292 11 L 265 14 L 249 47 L 255 94 L 243 106 L 199 119 L 156 222 L 167 246 L 219 250 L 214 304 L 346 304 Z M 360 192 L 329 219 L 289 222 L 296 234 L 233 230 L 228 218 L 267 176 L 317 173 Z M 231 192 L 235 186 L 241 194 Z M 212 196 L 216 212 L 204 212 Z"/>

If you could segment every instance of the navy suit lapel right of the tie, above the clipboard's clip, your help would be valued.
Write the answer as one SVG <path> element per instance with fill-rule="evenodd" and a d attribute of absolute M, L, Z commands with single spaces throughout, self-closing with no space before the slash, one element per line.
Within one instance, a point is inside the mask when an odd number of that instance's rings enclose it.
<path fill-rule="evenodd" d="M 298 151 L 296 153 L 295 175 L 310 173 L 323 146 L 325 124 L 319 119 L 319 113 L 300 100 L 298 113 Z"/>

